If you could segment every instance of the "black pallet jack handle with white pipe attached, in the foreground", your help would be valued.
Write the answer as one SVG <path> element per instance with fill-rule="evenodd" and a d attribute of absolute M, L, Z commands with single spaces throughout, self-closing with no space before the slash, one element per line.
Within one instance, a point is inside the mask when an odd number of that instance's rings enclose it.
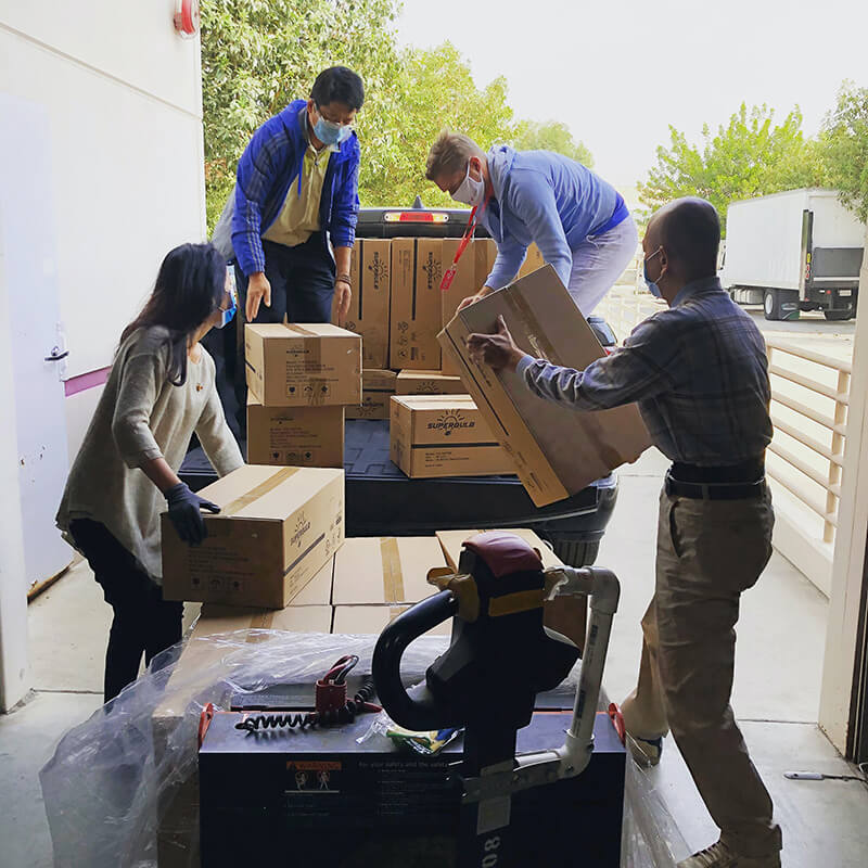
<path fill-rule="evenodd" d="M 539 552 L 497 532 L 464 544 L 457 575 L 432 578 L 441 592 L 380 636 L 374 685 L 385 711 L 408 729 L 464 728 L 459 868 L 505 868 L 513 864 L 512 794 L 575 777 L 590 761 L 618 582 L 607 570 L 544 573 Z M 544 599 L 563 593 L 591 601 L 573 719 L 562 746 L 516 756 L 516 733 L 531 723 L 537 693 L 559 685 L 579 655 L 569 639 L 542 626 Z M 451 643 L 427 669 L 425 689 L 410 695 L 400 679 L 401 654 L 449 617 L 455 618 Z"/>

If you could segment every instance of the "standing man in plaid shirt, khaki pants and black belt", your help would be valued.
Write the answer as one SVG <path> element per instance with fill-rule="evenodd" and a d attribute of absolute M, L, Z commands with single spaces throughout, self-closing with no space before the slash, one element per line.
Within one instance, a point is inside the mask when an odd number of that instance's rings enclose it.
<path fill-rule="evenodd" d="M 770 390 L 763 337 L 716 277 L 719 241 L 704 200 L 659 210 L 642 239 L 644 277 L 668 310 L 584 371 L 526 355 L 502 319 L 497 334 L 468 345 L 477 362 L 516 370 L 532 392 L 576 410 L 636 401 L 672 460 L 639 680 L 624 703 L 629 748 L 640 765 L 655 765 L 672 730 L 720 829 L 679 868 L 777 868 L 780 827 L 729 706 L 739 598 L 771 554 Z"/>

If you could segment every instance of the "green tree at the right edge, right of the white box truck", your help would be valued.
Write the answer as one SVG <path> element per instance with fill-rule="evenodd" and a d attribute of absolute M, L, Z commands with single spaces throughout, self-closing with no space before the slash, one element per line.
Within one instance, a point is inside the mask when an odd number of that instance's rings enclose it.
<path fill-rule="evenodd" d="M 820 141 L 829 184 L 859 219 L 868 220 L 868 88 L 844 81 Z"/>

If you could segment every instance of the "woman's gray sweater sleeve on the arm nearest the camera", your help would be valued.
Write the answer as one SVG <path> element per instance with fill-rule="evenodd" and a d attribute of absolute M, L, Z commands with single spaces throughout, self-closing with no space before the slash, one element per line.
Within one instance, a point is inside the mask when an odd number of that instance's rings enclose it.
<path fill-rule="evenodd" d="M 151 431 L 151 412 L 166 379 L 168 347 L 155 353 L 152 343 L 145 339 L 133 345 L 124 359 L 112 416 L 112 435 L 130 468 L 163 457 Z"/>

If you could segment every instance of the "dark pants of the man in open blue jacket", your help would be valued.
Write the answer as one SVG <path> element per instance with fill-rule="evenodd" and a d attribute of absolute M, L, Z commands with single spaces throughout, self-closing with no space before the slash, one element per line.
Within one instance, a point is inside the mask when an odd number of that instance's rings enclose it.
<path fill-rule="evenodd" d="M 271 284 L 271 306 L 259 304 L 254 322 L 331 322 L 334 295 L 334 258 L 322 232 L 315 232 L 304 244 L 288 247 L 263 241 L 265 276 Z M 239 305 L 247 303 L 247 278 L 235 266 Z M 241 323 L 239 322 L 239 327 Z M 241 353 L 244 342 L 240 341 Z M 244 359 L 235 366 L 238 421 L 246 431 L 247 382 Z"/>

